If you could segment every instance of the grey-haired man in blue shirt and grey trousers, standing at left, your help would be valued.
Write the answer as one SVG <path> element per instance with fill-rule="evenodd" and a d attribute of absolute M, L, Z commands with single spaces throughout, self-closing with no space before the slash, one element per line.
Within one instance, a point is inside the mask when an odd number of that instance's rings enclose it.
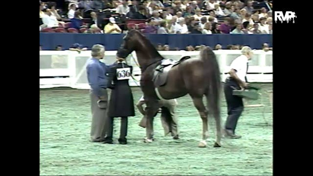
<path fill-rule="evenodd" d="M 87 77 L 90 85 L 91 100 L 91 132 L 92 142 L 103 142 L 106 134 L 105 122 L 107 120 L 108 107 L 108 77 L 107 66 L 100 62 L 104 57 L 105 48 L 101 44 L 95 44 L 91 48 L 91 58 L 87 61 Z"/>

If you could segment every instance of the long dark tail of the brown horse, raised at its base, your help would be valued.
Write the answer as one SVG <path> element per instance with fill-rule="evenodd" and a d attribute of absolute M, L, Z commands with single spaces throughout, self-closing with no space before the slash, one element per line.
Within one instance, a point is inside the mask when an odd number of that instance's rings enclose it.
<path fill-rule="evenodd" d="M 213 114 L 216 121 L 216 129 L 218 137 L 221 137 L 221 110 L 220 110 L 220 94 L 222 89 L 221 72 L 218 60 L 211 48 L 206 47 L 201 51 L 201 59 L 204 61 L 204 69 L 206 70 L 206 80 L 208 83 L 206 98 L 209 116 Z"/>

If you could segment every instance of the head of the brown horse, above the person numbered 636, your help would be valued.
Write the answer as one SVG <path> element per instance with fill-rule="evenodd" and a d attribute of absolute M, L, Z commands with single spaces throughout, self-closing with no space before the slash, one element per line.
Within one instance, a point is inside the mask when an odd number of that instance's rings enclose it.
<path fill-rule="evenodd" d="M 124 36 L 123 44 L 117 51 L 117 56 L 120 58 L 126 58 L 129 54 L 131 54 L 134 50 L 136 50 L 136 46 L 138 44 L 138 34 L 139 31 L 132 29 Z"/>

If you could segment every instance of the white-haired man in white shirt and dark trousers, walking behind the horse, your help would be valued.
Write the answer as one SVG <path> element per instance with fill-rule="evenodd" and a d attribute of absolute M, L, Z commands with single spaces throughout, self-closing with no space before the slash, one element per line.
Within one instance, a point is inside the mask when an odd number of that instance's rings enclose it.
<path fill-rule="evenodd" d="M 240 135 L 235 134 L 238 119 L 244 110 L 242 97 L 233 95 L 233 90 L 247 87 L 246 72 L 248 61 L 252 58 L 253 52 L 250 47 L 244 46 L 241 55 L 230 65 L 229 77 L 225 81 L 224 94 L 227 103 L 227 119 L 225 123 L 225 136 L 238 139 Z"/>

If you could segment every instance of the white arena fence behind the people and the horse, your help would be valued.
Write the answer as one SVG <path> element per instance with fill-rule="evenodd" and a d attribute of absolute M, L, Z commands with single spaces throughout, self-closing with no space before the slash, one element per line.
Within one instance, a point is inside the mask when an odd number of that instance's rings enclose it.
<path fill-rule="evenodd" d="M 240 50 L 214 51 L 220 65 L 222 80 L 227 77 L 230 63 L 240 55 Z M 199 57 L 199 51 L 159 51 L 166 59 L 179 60 L 183 56 Z M 104 63 L 115 62 L 116 51 L 106 51 Z M 40 51 L 40 88 L 71 87 L 89 89 L 86 61 L 90 51 Z M 134 66 L 133 76 L 140 80 L 140 69 L 136 65 L 136 54 L 127 58 L 128 64 Z M 255 50 L 249 63 L 247 79 L 249 82 L 272 82 L 272 51 Z M 131 86 L 139 86 L 139 82 L 130 80 Z"/>

